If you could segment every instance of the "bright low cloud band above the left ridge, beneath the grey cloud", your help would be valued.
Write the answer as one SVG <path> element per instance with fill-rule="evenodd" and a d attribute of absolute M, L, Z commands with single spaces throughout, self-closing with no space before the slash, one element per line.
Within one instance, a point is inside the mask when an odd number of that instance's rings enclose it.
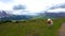
<path fill-rule="evenodd" d="M 9 13 L 10 12 L 10 13 Z M 8 11 L 8 14 L 13 14 L 13 15 L 38 15 L 38 13 L 34 13 L 30 11 Z"/>

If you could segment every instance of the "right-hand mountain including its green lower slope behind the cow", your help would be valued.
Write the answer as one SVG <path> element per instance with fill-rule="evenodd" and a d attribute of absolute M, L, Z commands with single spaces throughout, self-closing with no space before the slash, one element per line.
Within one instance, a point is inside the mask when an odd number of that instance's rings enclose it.
<path fill-rule="evenodd" d="M 40 13 L 38 16 L 34 17 L 35 19 L 36 18 L 40 18 L 40 19 L 48 19 L 48 18 L 52 18 L 52 19 L 55 19 L 55 18 L 61 18 L 61 17 L 65 17 L 65 13 L 64 12 L 60 12 L 60 13 Z"/>

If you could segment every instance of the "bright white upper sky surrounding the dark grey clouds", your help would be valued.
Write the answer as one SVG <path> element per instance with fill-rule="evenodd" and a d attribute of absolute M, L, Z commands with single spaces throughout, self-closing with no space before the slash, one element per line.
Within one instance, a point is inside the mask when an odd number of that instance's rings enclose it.
<path fill-rule="evenodd" d="M 11 11 L 14 5 L 22 4 L 26 7 L 26 11 L 40 12 L 47 11 L 51 6 L 62 3 L 65 3 L 65 0 L 0 0 L 0 10 Z M 52 11 L 61 11 L 61 8 L 49 10 L 49 12 Z"/>

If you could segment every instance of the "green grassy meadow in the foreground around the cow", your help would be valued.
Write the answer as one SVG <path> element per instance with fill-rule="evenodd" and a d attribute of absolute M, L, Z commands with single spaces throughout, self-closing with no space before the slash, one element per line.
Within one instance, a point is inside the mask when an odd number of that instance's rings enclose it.
<path fill-rule="evenodd" d="M 57 30 L 65 18 L 53 19 L 51 29 L 47 25 L 47 19 L 32 19 L 26 22 L 6 22 L 0 24 L 0 36 L 57 36 Z"/>

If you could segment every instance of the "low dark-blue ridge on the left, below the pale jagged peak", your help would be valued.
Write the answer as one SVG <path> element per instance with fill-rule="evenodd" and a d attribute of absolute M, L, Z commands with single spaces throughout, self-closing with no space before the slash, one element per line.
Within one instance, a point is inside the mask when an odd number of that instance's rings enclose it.
<path fill-rule="evenodd" d="M 30 16 L 25 16 L 25 15 L 13 15 L 13 16 L 10 16 L 10 17 L 4 17 L 4 18 L 1 18 L 3 20 L 22 20 L 22 19 L 30 19 L 31 17 Z"/>

